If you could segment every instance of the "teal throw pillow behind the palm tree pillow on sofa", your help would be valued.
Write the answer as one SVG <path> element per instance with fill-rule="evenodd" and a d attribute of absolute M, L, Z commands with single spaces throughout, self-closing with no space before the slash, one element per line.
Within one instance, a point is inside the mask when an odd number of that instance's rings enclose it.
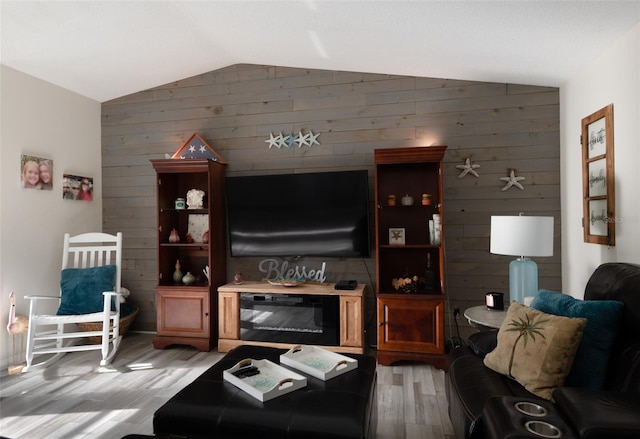
<path fill-rule="evenodd" d="M 567 294 L 541 290 L 531 307 L 557 316 L 587 319 L 565 385 L 601 389 L 624 304 L 616 300 L 580 300 Z"/>

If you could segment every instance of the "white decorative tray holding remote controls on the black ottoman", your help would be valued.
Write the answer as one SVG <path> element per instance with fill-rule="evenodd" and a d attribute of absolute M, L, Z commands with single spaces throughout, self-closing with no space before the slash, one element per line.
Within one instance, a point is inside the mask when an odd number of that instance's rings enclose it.
<path fill-rule="evenodd" d="M 269 360 L 251 358 L 244 359 L 231 369 L 223 371 L 222 376 L 225 381 L 262 402 L 302 389 L 307 385 L 307 379 L 302 375 Z"/>

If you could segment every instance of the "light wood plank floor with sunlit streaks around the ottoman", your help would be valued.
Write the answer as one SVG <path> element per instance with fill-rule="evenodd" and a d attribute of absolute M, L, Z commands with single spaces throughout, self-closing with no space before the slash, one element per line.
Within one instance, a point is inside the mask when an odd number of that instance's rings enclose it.
<path fill-rule="evenodd" d="M 0 375 L 0 436 L 11 439 L 119 439 L 152 434 L 153 413 L 224 354 L 190 347 L 153 349 L 130 333 L 113 364 L 98 351 L 65 355 L 46 369 Z M 379 439 L 453 438 L 444 372 L 424 364 L 378 365 Z"/>

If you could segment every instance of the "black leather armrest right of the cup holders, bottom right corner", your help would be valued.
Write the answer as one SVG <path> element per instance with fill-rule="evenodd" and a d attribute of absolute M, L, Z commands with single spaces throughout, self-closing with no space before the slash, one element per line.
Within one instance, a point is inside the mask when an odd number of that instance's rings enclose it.
<path fill-rule="evenodd" d="M 553 399 L 581 439 L 640 437 L 639 393 L 559 387 Z"/>

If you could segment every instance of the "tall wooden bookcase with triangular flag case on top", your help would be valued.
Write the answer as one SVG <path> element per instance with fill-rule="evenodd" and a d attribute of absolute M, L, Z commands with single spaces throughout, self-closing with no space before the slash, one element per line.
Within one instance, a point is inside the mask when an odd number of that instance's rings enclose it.
<path fill-rule="evenodd" d="M 218 340 L 217 289 L 226 283 L 225 164 L 210 159 L 151 160 L 157 175 L 157 336 L 153 345 L 191 345 L 209 351 Z M 191 189 L 204 191 L 202 208 L 176 209 Z M 175 229 L 180 242 L 169 241 Z M 208 242 L 203 232 L 209 231 Z M 188 242 L 191 232 L 194 242 Z M 195 282 L 174 281 L 176 261 Z M 209 266 L 209 279 L 203 269 Z"/>

